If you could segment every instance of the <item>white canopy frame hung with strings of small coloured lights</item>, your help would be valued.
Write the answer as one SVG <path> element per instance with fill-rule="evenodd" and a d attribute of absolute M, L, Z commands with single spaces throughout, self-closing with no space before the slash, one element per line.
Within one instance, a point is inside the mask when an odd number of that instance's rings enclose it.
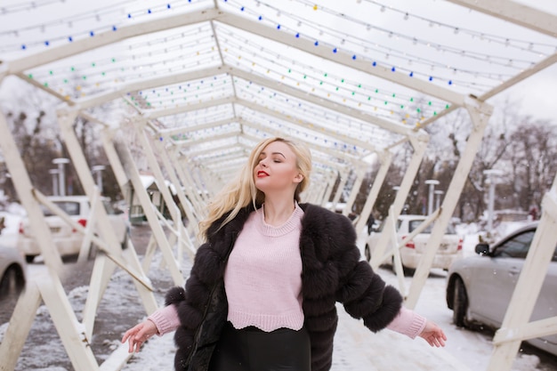
<path fill-rule="evenodd" d="M 557 16 L 508 0 L 3 2 L 3 89 L 7 80 L 19 78 L 60 100 L 61 134 L 92 202 L 98 190 L 71 125 L 78 116 L 97 122 L 118 184 L 139 199 L 153 237 L 140 262 L 133 246 L 119 249 L 104 209 L 95 208 L 107 254 L 95 258 L 79 324 L 57 275 L 61 260 L 40 212 L 44 199 L 34 190 L 0 114 L 0 148 L 49 267 L 47 277 L 29 283 L 17 304 L 0 344 L 0 369 L 15 367 L 41 300 L 75 369 L 123 367 L 130 357 L 125 346 L 101 365 L 88 346 L 112 273 L 117 266 L 130 272 L 147 313 L 155 311 L 144 273 L 150 257 L 160 248 L 174 282 L 183 284 L 178 262 L 184 251 L 195 254 L 190 236 L 207 200 L 238 173 L 262 138 L 307 143 L 315 172 L 304 200 L 325 206 L 333 199 L 335 205 L 345 192 L 345 214 L 370 163 L 377 161 L 379 172 L 356 224 L 362 230 L 393 153 L 406 142 L 414 149 L 392 205 L 390 216 L 396 218 L 428 149 L 423 128 L 465 109 L 472 131 L 436 211 L 427 253 L 408 294 L 403 293 L 406 305 L 415 307 L 488 125 L 492 108 L 486 101 L 552 66 L 556 51 Z M 134 155 L 138 151 L 141 158 Z M 159 185 L 169 220 L 141 183 L 144 169 Z M 188 228 L 165 181 L 190 220 Z M 545 253 L 557 239 L 556 182 L 545 197 L 534 243 Z M 168 238 L 161 221 L 171 230 Z M 383 253 L 389 228 L 378 244 Z M 545 253 L 529 256 L 488 369 L 510 369 L 521 340 L 557 332 L 557 319 L 529 324 L 532 309 L 517 305 L 539 292 L 544 271 L 528 267 L 548 263 L 551 254 Z M 67 319 L 72 319 L 69 324 Z"/>

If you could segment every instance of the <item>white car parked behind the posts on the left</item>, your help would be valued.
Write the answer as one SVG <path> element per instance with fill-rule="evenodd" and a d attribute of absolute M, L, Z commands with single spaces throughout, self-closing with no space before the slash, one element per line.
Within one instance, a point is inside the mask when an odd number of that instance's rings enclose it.
<path fill-rule="evenodd" d="M 69 217 L 86 227 L 91 214 L 91 205 L 86 196 L 52 196 L 49 197 L 56 206 L 59 206 Z M 102 198 L 102 204 L 109 215 L 110 225 L 114 228 L 118 241 L 125 247 L 129 232 L 129 223 L 125 217 L 110 205 L 108 198 Z M 54 244 L 61 256 L 79 254 L 84 234 L 73 229 L 69 223 L 60 216 L 52 214 L 45 206 L 43 208 L 44 219 L 50 227 Z M 95 231 L 96 233 L 96 231 Z M 20 223 L 20 237 L 17 243 L 20 252 L 25 255 L 27 262 L 33 262 L 38 254 L 41 254 L 35 236 L 30 228 L 27 218 Z"/>

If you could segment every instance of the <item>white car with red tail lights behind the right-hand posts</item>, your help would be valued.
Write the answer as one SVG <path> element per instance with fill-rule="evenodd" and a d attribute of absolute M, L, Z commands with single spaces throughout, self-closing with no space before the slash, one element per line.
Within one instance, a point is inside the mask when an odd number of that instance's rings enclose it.
<path fill-rule="evenodd" d="M 412 233 L 420 224 L 422 224 L 427 219 L 424 215 L 400 215 L 396 223 L 396 244 L 400 245 L 402 240 Z M 374 254 L 375 246 L 377 241 L 381 236 L 383 231 L 384 223 L 383 221 L 377 230 L 372 230 L 372 232 L 367 237 L 366 246 L 364 247 L 364 256 L 367 261 L 371 260 L 371 256 Z M 406 241 L 405 245 L 400 248 L 400 260 L 402 261 L 402 267 L 407 275 L 412 275 L 416 270 L 418 263 L 422 259 L 424 254 L 425 246 L 429 240 L 432 233 L 433 223 L 427 226 L 425 230 L 417 234 L 416 237 L 411 240 Z M 448 270 L 448 267 L 458 259 L 463 256 L 462 253 L 463 238 L 456 234 L 455 228 L 452 224 L 449 224 L 445 235 L 441 239 L 440 246 L 435 254 L 435 259 L 433 260 L 432 268 L 441 268 L 443 270 Z"/>

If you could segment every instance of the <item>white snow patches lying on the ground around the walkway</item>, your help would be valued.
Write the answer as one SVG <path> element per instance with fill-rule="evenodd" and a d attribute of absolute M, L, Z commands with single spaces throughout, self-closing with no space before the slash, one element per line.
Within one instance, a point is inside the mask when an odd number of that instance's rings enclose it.
<path fill-rule="evenodd" d="M 7 228 L 0 236 L 0 243 L 3 245 L 12 245 L 17 237 L 17 220 L 20 216 L 14 214 L 6 214 Z M 1 215 L 0 215 L 1 216 Z M 515 228 L 515 226 L 509 227 Z M 473 247 L 478 242 L 478 232 L 474 226 L 462 226 L 460 231 L 465 233 L 464 237 L 464 255 L 473 253 Z M 158 255 L 158 254 L 157 254 Z M 160 256 L 156 257 L 157 259 Z M 186 257 L 187 259 L 187 257 Z M 186 266 L 190 262 L 186 262 Z M 154 262 L 153 267 L 157 266 Z M 43 267 L 43 268 L 41 268 Z M 32 276 L 34 271 L 44 269 L 40 264 L 29 265 L 29 274 Z M 189 271 L 184 267 L 184 271 Z M 398 286 L 397 278 L 390 270 L 380 269 L 379 273 L 383 279 Z M 165 270 L 151 270 L 151 274 L 168 275 Z M 117 276 L 125 276 L 120 271 Z M 493 349 L 491 344 L 491 336 L 487 334 L 471 332 L 456 328 L 452 324 L 452 311 L 449 311 L 445 302 L 445 279 L 446 273 L 442 270 L 433 271 L 427 280 L 427 284 L 422 291 L 422 295 L 416 305 L 416 311 L 425 317 L 432 319 L 442 327 L 448 335 L 448 343 L 446 348 L 431 348 L 423 339 L 417 338 L 411 340 L 406 336 L 393 333 L 389 330 L 383 330 L 378 334 L 369 332 L 360 321 L 351 319 L 339 306 L 339 327 L 335 335 L 335 351 L 333 371 L 359 371 L 359 370 L 486 370 L 488 360 Z M 122 277 L 111 279 L 107 294 L 110 297 L 110 305 L 112 310 L 116 312 L 129 311 L 129 302 L 119 303 L 122 292 L 130 290 L 129 279 Z M 406 286 L 409 287 L 411 278 L 406 278 Z M 162 295 L 165 287 L 157 287 L 160 292 L 157 294 L 157 300 L 162 302 Z M 69 300 L 75 311 L 83 308 L 87 287 L 80 286 L 69 292 Z M 139 304 L 138 304 L 139 305 Z M 45 307 L 42 306 L 37 311 L 35 326 L 46 326 L 42 321 L 48 321 L 45 315 Z M 138 316 L 138 321 L 141 316 Z M 0 341 L 4 336 L 7 323 L 0 324 Z M 119 330 L 119 329 L 118 329 Z M 117 329 L 115 328 L 115 331 Z M 101 355 L 101 359 L 105 359 L 110 351 L 117 348 L 119 344 L 111 341 L 106 347 L 106 354 Z M 65 371 L 65 367 L 52 366 L 56 365 L 55 359 L 66 357 L 61 349 L 61 342 L 54 341 L 52 343 L 44 343 L 40 349 L 24 349 L 22 356 L 29 359 L 42 359 L 41 367 L 30 367 L 22 365 L 19 362 L 16 370 L 42 370 L 42 371 Z M 29 354 L 28 354 L 29 353 Z M 97 355 L 97 354 L 96 354 Z M 99 356 L 99 355 L 97 355 Z M 139 353 L 133 355 L 128 364 L 123 368 L 124 371 L 140 369 L 143 371 L 163 371 L 173 369 L 174 360 L 174 339 L 173 335 L 165 335 L 149 340 Z M 1 360 L 0 360 L 1 362 Z M 396 366 L 395 366 L 396 365 Z M 459 366 L 460 365 L 460 366 Z M 1 365 L 0 365 L 1 366 Z M 520 353 L 513 365 L 513 371 L 550 371 L 557 370 L 552 365 L 541 365 L 540 359 L 536 355 Z"/>

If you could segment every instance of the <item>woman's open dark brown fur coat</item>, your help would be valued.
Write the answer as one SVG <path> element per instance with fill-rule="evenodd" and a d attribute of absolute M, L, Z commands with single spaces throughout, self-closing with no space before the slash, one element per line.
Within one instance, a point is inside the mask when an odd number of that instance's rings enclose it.
<path fill-rule="evenodd" d="M 385 286 L 367 262 L 359 260 L 356 233 L 348 218 L 320 206 L 300 206 L 304 211 L 300 237 L 303 314 L 311 338 L 311 370 L 327 371 L 338 322 L 335 302 L 342 302 L 347 313 L 363 319 L 376 332 L 396 317 L 402 297 L 394 287 Z M 227 319 L 224 268 L 252 211 L 253 207 L 246 207 L 221 230 L 219 221 L 215 222 L 208 242 L 198 249 L 185 289 L 174 287 L 166 294 L 166 304 L 176 305 L 181 321 L 174 335 L 176 370 L 206 371 L 209 366 Z"/>

